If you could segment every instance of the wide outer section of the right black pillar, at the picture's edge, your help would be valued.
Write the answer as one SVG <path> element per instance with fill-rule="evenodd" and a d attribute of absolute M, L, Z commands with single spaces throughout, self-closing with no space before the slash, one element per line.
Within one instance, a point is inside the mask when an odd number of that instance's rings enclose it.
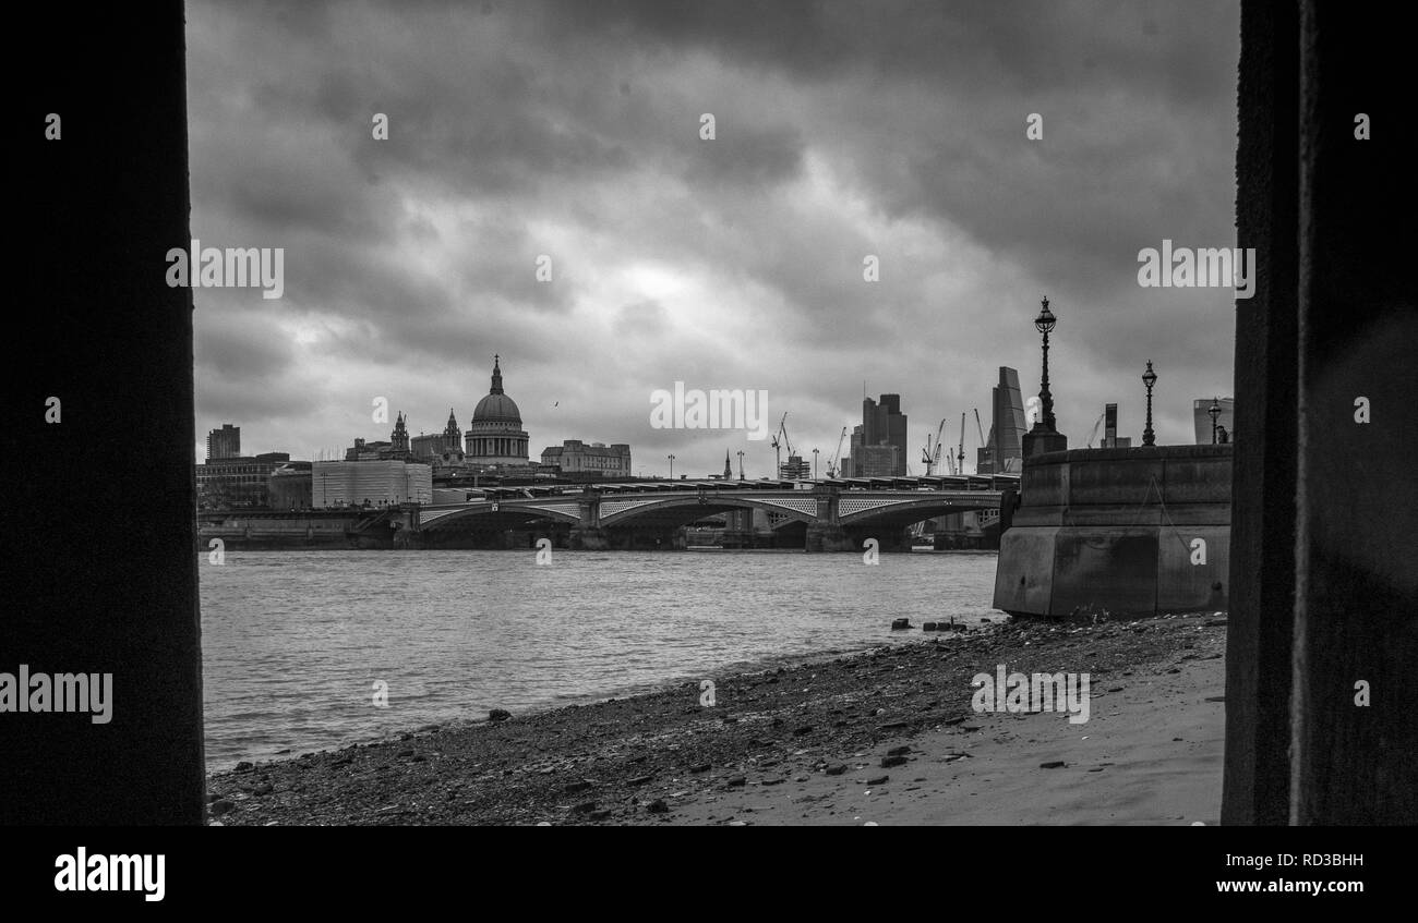
<path fill-rule="evenodd" d="M 1418 824 L 1411 44 L 1381 6 L 1302 6 L 1296 824 Z"/>

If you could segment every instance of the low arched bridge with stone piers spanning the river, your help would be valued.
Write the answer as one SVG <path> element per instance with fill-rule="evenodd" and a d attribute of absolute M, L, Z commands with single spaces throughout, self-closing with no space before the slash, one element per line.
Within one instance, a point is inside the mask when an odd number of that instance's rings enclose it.
<path fill-rule="evenodd" d="M 502 487 L 468 491 L 476 495 L 465 503 L 410 507 L 400 527 L 404 542 L 425 546 L 469 531 L 540 529 L 574 549 L 669 548 L 691 522 L 727 514 L 737 524 L 729 537 L 752 528 L 759 511 L 784 544 L 808 551 L 861 549 L 868 538 L 896 549 L 909 546 L 905 529 L 922 520 L 981 511 L 993 521 L 1018 486 L 1018 476 L 998 474 Z"/>

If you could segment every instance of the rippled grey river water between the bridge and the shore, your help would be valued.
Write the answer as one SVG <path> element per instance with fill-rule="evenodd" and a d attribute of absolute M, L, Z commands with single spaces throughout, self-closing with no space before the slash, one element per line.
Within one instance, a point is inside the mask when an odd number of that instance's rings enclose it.
<path fill-rule="evenodd" d="M 920 637 L 893 617 L 1003 617 L 988 552 L 553 555 L 201 556 L 208 769 Z"/>

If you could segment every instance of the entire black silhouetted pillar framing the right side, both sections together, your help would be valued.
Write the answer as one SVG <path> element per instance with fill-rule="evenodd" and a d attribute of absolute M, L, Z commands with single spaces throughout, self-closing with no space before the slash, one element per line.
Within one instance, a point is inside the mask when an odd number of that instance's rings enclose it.
<path fill-rule="evenodd" d="M 1407 42 L 1378 6 L 1242 11 L 1225 822 L 1418 822 Z"/>

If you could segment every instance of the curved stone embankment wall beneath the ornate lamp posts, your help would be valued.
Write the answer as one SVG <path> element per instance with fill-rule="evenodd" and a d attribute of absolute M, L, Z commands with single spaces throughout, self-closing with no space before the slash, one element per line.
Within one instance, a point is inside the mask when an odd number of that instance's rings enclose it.
<path fill-rule="evenodd" d="M 994 606 L 1037 616 L 1225 609 L 1231 452 L 1073 449 L 1029 459 L 1024 503 L 1000 537 Z"/>

